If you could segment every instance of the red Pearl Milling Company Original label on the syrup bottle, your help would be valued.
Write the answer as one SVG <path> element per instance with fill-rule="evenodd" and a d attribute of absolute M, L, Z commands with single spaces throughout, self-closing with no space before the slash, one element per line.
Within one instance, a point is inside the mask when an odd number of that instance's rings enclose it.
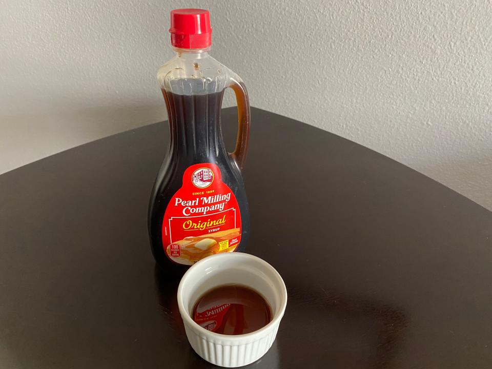
<path fill-rule="evenodd" d="M 222 182 L 219 167 L 213 163 L 188 167 L 162 220 L 166 255 L 178 264 L 192 265 L 213 254 L 235 251 L 240 240 L 239 206 Z"/>

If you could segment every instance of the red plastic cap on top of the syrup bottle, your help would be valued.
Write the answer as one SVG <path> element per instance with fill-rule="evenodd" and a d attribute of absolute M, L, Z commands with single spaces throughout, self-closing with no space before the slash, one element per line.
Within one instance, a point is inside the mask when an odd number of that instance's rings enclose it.
<path fill-rule="evenodd" d="M 212 45 L 210 13 L 203 9 L 171 10 L 171 45 L 180 49 L 204 49 Z"/>

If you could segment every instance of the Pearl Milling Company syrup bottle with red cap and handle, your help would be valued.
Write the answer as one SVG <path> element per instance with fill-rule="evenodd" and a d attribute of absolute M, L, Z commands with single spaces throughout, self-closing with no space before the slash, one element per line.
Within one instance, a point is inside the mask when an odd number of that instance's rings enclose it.
<path fill-rule="evenodd" d="M 166 101 L 170 146 L 157 175 L 149 207 L 152 253 L 166 272 L 180 273 L 198 260 L 244 251 L 250 220 L 241 170 L 248 150 L 250 104 L 242 80 L 209 55 L 210 14 L 171 11 L 176 56 L 158 73 Z M 236 148 L 222 139 L 224 90 L 237 100 Z"/>

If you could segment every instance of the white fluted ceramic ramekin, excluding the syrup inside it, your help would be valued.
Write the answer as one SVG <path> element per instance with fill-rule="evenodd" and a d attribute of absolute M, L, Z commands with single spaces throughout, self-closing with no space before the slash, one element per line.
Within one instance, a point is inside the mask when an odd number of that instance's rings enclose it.
<path fill-rule="evenodd" d="M 272 308 L 272 321 L 258 331 L 229 336 L 210 332 L 193 321 L 194 304 L 216 286 L 240 283 L 258 291 Z M 266 261 L 249 254 L 223 253 L 195 263 L 178 287 L 179 313 L 193 350 L 215 365 L 236 367 L 262 357 L 272 346 L 287 304 L 287 290 L 278 272 Z"/>

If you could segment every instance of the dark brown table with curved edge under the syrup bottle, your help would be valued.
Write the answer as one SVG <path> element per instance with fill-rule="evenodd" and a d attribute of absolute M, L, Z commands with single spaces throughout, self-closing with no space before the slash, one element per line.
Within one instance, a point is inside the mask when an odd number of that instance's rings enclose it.
<path fill-rule="evenodd" d="M 289 302 L 251 366 L 492 367 L 492 213 L 354 142 L 252 114 L 249 252 Z M 159 123 L 0 176 L 1 368 L 211 366 L 148 242 L 167 144 Z"/>

